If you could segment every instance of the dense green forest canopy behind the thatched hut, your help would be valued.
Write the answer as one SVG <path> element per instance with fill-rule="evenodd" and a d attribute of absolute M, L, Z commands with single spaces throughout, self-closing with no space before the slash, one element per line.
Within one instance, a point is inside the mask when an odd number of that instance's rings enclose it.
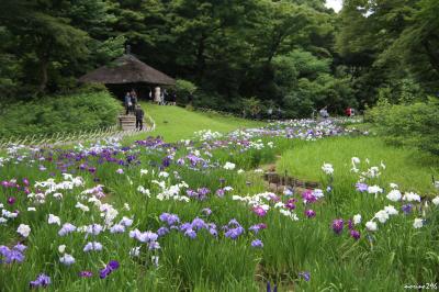
<path fill-rule="evenodd" d="M 77 87 L 122 55 L 196 85 L 194 103 L 243 99 L 306 116 L 439 90 L 439 1 L 2 0 L 1 98 Z"/>

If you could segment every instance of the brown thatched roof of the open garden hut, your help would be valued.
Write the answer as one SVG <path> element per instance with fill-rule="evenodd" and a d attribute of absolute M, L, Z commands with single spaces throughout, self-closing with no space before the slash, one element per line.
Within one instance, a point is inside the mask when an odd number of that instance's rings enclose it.
<path fill-rule="evenodd" d="M 133 55 L 123 55 L 108 66 L 102 66 L 81 78 L 80 82 L 105 85 L 146 82 L 153 85 L 173 86 L 176 80 L 162 74 Z"/>

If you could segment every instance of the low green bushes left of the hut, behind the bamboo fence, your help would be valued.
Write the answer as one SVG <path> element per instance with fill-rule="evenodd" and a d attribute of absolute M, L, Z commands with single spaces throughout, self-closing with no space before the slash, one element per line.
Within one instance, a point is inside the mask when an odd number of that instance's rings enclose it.
<path fill-rule="evenodd" d="M 106 90 L 78 90 L 65 96 L 2 104 L 0 137 L 91 131 L 111 126 L 122 110 Z"/>

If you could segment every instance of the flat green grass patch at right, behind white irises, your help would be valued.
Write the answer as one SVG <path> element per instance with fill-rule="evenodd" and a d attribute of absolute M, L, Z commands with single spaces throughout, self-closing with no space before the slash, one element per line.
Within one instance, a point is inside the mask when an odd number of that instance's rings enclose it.
<path fill-rule="evenodd" d="M 277 167 L 279 173 L 286 170 L 290 176 L 319 181 L 324 177 L 320 168 L 324 162 L 328 162 L 334 166 L 337 183 L 337 180 L 350 173 L 351 157 L 361 159 L 361 171 L 380 166 L 383 161 L 385 169 L 381 170 L 380 180 L 397 183 L 403 190 L 431 192 L 431 176 L 435 176 L 436 180 L 439 179 L 438 157 L 415 149 L 389 146 L 380 137 L 367 136 L 296 142 L 292 149 L 283 153 Z M 365 164 L 365 158 L 369 158 L 370 165 Z M 353 173 L 350 177 L 353 178 Z"/>

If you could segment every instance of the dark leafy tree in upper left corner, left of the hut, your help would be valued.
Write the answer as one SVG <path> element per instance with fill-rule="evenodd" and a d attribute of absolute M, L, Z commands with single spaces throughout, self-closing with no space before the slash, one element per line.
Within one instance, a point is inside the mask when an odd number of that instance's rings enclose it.
<path fill-rule="evenodd" d="M 14 81 L 27 94 L 71 88 L 76 83 L 69 79 L 122 53 L 124 38 L 105 35 L 111 15 L 104 1 L 5 0 L 2 5 L 1 29 L 9 37 L 0 48 L 19 60 Z"/>

